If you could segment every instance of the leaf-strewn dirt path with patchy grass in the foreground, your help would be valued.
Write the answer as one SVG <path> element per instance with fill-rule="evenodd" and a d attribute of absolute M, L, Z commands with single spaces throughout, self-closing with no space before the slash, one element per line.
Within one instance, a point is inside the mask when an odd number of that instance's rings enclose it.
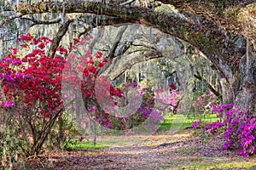
<path fill-rule="evenodd" d="M 256 165 L 256 156 L 245 158 L 234 155 L 234 151 L 222 150 L 220 137 L 207 139 L 202 145 L 201 139 L 189 136 L 189 130 L 175 135 L 161 131 L 143 142 L 131 144 L 137 138 L 108 137 L 103 140 L 124 141 L 96 151 L 48 153 L 40 160 L 15 165 L 15 169 L 256 169 L 252 167 Z"/>

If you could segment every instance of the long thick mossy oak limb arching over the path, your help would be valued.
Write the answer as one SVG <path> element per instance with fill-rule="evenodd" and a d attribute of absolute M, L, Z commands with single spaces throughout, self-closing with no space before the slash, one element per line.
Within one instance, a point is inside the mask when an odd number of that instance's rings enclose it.
<path fill-rule="evenodd" d="M 245 48 L 237 48 L 235 42 L 227 37 L 226 31 L 208 20 L 204 20 L 200 26 L 189 20 L 178 17 L 177 14 L 163 14 L 153 12 L 149 8 L 127 7 L 117 4 L 95 3 L 95 2 L 66 2 L 66 13 L 90 13 L 105 14 L 119 17 L 125 22 L 140 23 L 152 26 L 160 31 L 179 37 L 198 48 L 212 61 L 212 64 L 219 71 L 223 68 L 230 68 L 236 71 L 239 59 L 245 53 Z M 61 13 L 62 3 L 32 3 L 31 13 Z M 17 13 L 28 14 L 27 5 L 22 3 L 20 8 L 15 9 Z M 235 49 L 239 49 L 237 53 Z M 234 64 L 234 58 L 237 62 Z M 230 79 L 230 71 L 223 71 L 222 76 Z"/>

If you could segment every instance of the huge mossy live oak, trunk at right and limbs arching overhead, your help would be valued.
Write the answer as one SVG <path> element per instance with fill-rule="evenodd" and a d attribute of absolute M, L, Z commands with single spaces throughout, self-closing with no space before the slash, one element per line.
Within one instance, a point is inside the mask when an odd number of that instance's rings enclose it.
<path fill-rule="evenodd" d="M 30 1 L 29 1 L 30 2 Z M 172 8 L 174 7 L 174 8 Z M 14 11 L 0 26 L 32 14 L 96 14 L 95 26 L 139 23 L 189 42 L 212 62 L 222 77 L 224 101 L 256 112 L 256 3 L 254 0 L 108 0 L 94 2 L 38 2 L 4 5 Z M 90 15 L 89 15 L 90 16 Z M 32 20 L 32 18 L 31 18 Z M 32 20 L 35 24 L 60 22 L 58 44 L 75 20 Z M 94 22 L 95 23 L 95 22 Z M 55 54 L 52 47 L 50 54 Z"/>

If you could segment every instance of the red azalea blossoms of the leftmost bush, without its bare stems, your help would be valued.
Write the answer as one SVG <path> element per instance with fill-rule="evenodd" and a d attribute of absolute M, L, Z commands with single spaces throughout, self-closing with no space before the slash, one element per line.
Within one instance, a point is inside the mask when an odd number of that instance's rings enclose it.
<path fill-rule="evenodd" d="M 48 37 L 36 38 L 27 33 L 18 40 L 21 48 L 29 53 L 20 57 L 16 48 L 10 48 L 12 51 L 2 59 L 2 64 L 9 64 L 9 70 L 1 69 L 9 72 L 9 75 L 4 75 L 3 82 L 9 82 L 5 84 L 4 94 L 19 97 L 26 111 L 39 111 L 42 116 L 49 117 L 62 104 L 59 93 L 61 70 L 66 61 L 61 56 L 49 57 L 46 54 L 46 47 L 52 42 Z"/>

